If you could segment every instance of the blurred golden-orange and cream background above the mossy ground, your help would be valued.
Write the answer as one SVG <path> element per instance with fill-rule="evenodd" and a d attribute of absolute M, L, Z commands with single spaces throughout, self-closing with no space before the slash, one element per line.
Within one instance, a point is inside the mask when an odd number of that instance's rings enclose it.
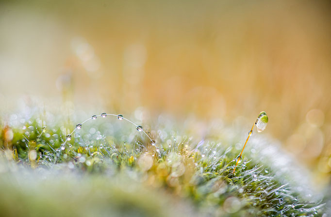
<path fill-rule="evenodd" d="M 265 110 L 267 133 L 327 184 L 330 15 L 327 0 L 0 0 L 0 112 L 37 98 L 253 124 Z"/>

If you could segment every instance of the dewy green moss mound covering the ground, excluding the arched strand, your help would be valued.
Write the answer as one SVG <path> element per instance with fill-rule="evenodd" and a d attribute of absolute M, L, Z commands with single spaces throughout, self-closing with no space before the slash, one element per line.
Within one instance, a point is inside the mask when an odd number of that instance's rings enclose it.
<path fill-rule="evenodd" d="M 176 129 L 160 117 L 150 124 L 155 129 L 147 125 L 152 144 L 116 117 L 98 120 L 75 131 L 65 149 L 66 128 L 76 124 L 33 118 L 4 126 L 0 210 L 7 216 L 323 214 L 304 171 L 277 142 L 253 135 L 233 173 L 247 134 L 242 127 L 209 123 L 201 140 L 196 120 Z"/>

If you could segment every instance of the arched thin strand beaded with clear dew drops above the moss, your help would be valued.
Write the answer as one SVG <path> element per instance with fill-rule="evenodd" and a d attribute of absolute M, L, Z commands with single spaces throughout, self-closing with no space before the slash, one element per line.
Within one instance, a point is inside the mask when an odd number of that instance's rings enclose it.
<path fill-rule="evenodd" d="M 89 120 L 96 120 L 96 119 L 97 119 L 98 117 L 100 117 L 100 116 L 101 116 L 102 118 L 105 118 L 105 117 L 107 117 L 107 115 L 109 115 L 109 116 L 116 116 L 117 119 L 120 120 L 120 121 L 124 119 L 124 120 L 130 122 L 131 124 L 135 125 L 137 131 L 139 131 L 139 132 L 143 132 L 143 133 L 149 138 L 149 140 L 150 140 L 150 144 L 151 144 L 152 146 L 155 146 L 155 144 L 156 144 L 155 140 L 152 140 L 152 139 L 149 137 L 149 135 L 143 130 L 143 127 L 142 127 L 141 125 L 134 124 L 134 123 L 133 123 L 132 121 L 130 121 L 129 119 L 124 118 L 123 115 L 121 115 L 121 114 L 117 114 L 117 115 L 116 115 L 116 114 L 107 114 L 107 113 L 103 112 L 103 113 L 101 113 L 100 115 L 92 115 L 91 118 L 85 120 L 82 124 L 76 124 L 76 128 L 75 128 L 70 134 L 66 135 L 66 140 L 65 140 L 65 142 L 61 145 L 61 150 L 65 150 L 65 149 L 66 149 L 66 142 L 71 140 L 71 138 L 72 138 L 71 135 L 72 135 L 76 130 L 80 130 L 80 129 L 82 129 L 82 125 L 83 125 L 85 122 L 87 122 L 87 121 L 89 121 Z"/>

